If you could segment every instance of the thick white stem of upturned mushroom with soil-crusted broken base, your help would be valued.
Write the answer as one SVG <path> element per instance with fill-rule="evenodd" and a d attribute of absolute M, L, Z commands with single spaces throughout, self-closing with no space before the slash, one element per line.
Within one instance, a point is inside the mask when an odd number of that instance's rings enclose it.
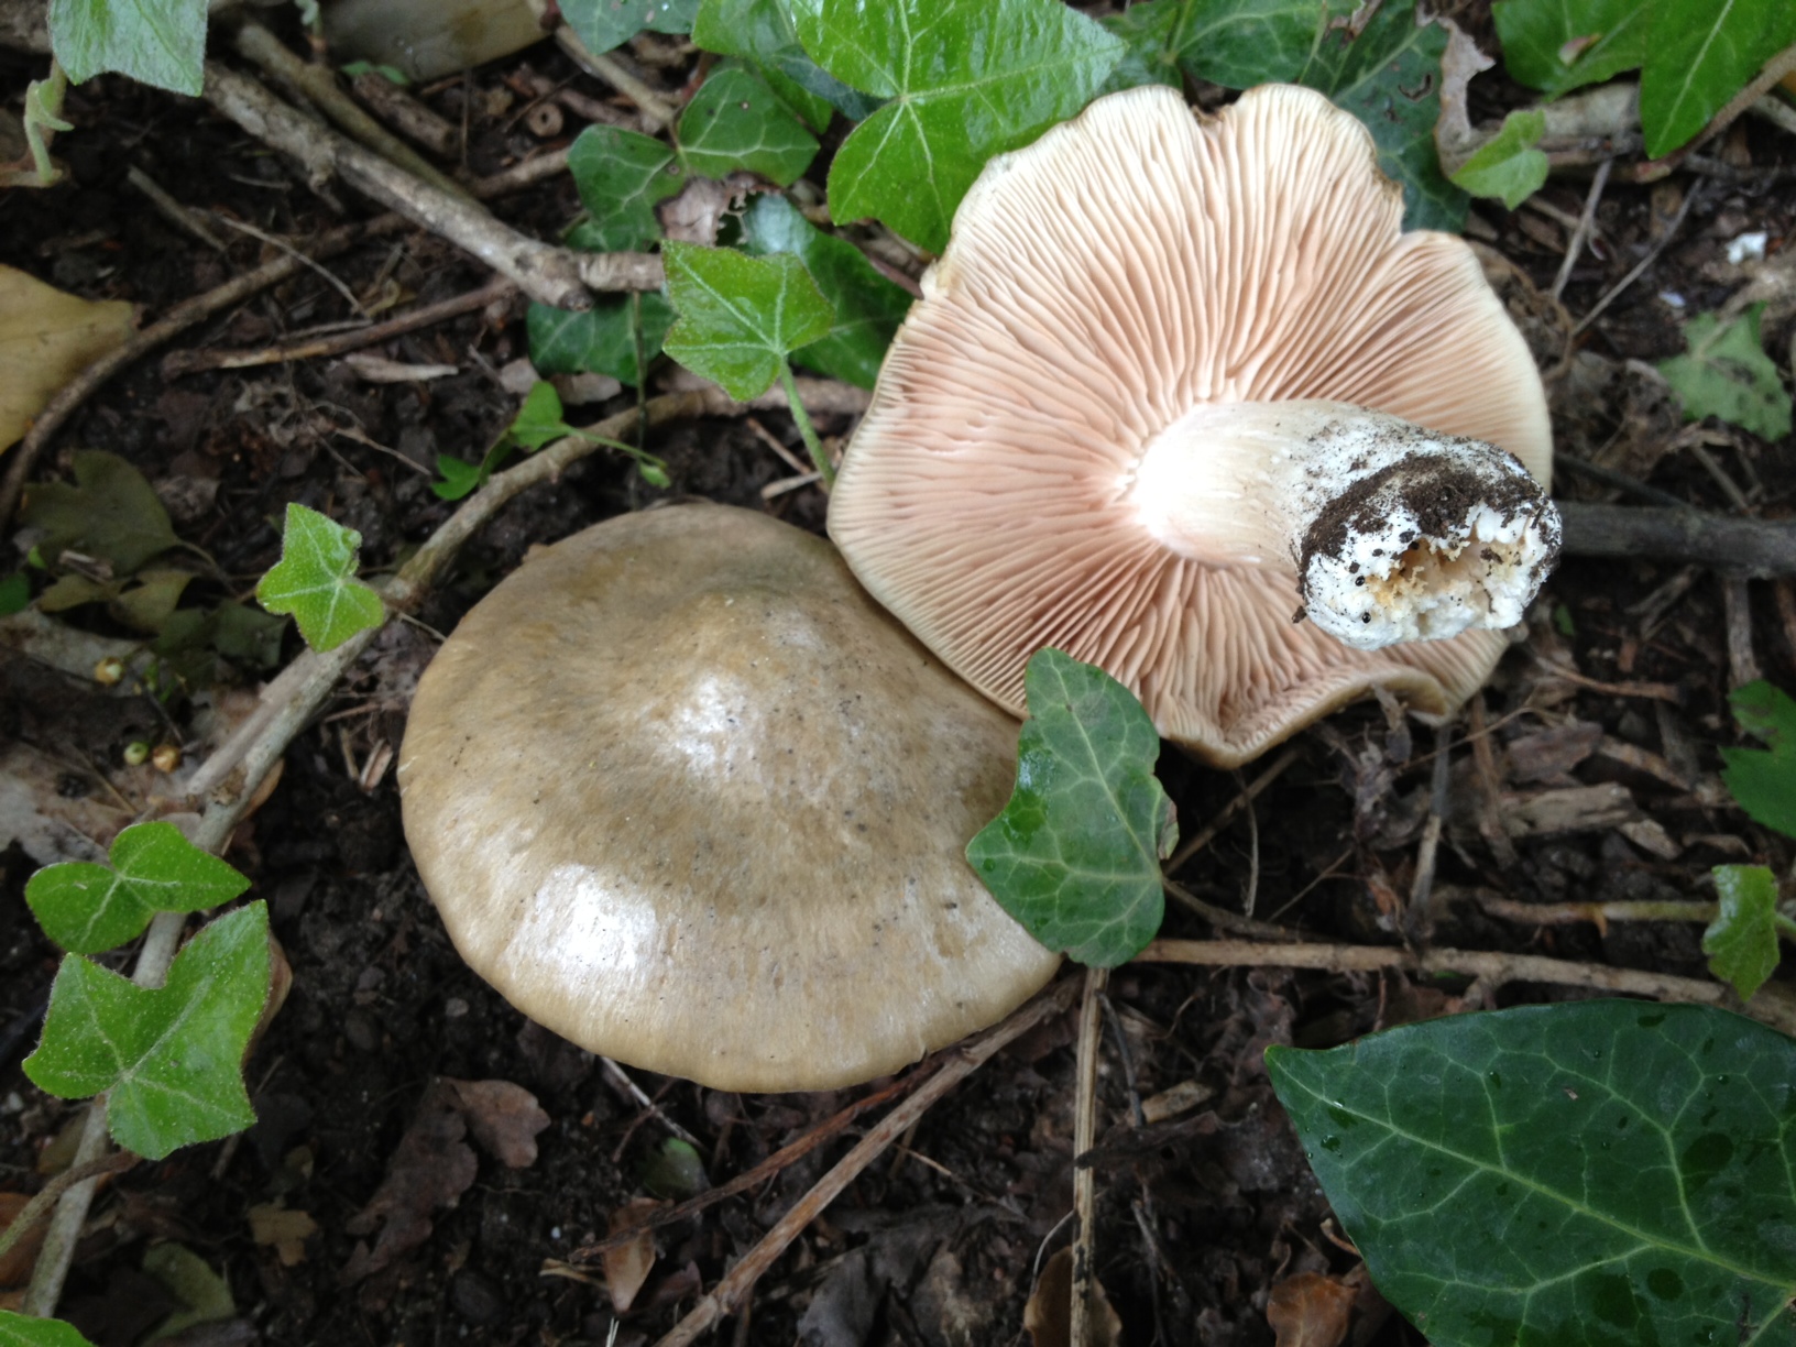
<path fill-rule="evenodd" d="M 1202 404 L 1126 489 L 1184 557 L 1295 566 L 1297 616 L 1360 650 L 1514 627 L 1559 557 L 1514 456 L 1347 402 Z"/>

